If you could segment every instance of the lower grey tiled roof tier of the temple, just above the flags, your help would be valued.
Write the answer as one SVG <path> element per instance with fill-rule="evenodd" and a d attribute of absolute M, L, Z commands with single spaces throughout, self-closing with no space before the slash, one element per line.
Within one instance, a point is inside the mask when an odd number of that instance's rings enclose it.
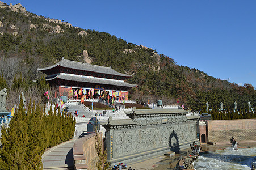
<path fill-rule="evenodd" d="M 51 81 L 53 79 L 63 79 L 63 80 L 70 80 L 74 82 L 86 82 L 86 83 L 96 83 L 96 84 L 109 84 L 113 86 L 123 86 L 123 87 L 136 87 L 136 84 L 129 84 L 123 81 L 115 81 L 111 79 L 100 79 L 94 77 L 85 77 L 85 76 L 72 76 L 72 75 L 56 75 L 53 78 L 45 78 L 47 81 Z"/>

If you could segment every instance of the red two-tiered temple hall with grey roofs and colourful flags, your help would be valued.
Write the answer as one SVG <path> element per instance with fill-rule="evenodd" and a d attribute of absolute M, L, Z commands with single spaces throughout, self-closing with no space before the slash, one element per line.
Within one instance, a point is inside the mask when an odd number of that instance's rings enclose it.
<path fill-rule="evenodd" d="M 86 99 L 102 97 L 109 99 L 114 96 L 121 100 L 128 100 L 128 90 L 136 87 L 136 84 L 124 82 L 131 75 L 119 73 L 111 67 L 67 59 L 62 59 L 55 65 L 37 69 L 37 71 L 47 74 L 45 79 L 50 85 L 58 87 L 60 96 L 68 95 L 77 98 L 85 96 Z"/>

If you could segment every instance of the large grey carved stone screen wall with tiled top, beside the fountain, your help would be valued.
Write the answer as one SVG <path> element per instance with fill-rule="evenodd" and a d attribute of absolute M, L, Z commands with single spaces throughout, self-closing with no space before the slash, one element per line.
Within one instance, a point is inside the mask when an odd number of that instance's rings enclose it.
<path fill-rule="evenodd" d="M 198 141 L 198 117 L 187 118 L 186 111 L 175 113 L 175 110 L 171 110 L 172 113 L 161 113 L 164 111 L 166 110 L 136 110 L 136 113 L 129 115 L 132 117 L 130 122 L 111 120 L 103 125 L 107 130 L 108 161 L 111 164 L 136 163 L 166 152 L 189 148 L 190 143 Z"/>

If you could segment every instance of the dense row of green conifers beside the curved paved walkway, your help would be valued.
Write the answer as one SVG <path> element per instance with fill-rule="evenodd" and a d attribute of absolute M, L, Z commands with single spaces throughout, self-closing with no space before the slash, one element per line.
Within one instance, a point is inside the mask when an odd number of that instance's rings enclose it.
<path fill-rule="evenodd" d="M 56 109 L 45 113 L 39 104 L 23 101 L 16 108 L 9 127 L 2 128 L 0 169 L 43 169 L 42 155 L 46 148 L 72 139 L 75 118 Z"/>

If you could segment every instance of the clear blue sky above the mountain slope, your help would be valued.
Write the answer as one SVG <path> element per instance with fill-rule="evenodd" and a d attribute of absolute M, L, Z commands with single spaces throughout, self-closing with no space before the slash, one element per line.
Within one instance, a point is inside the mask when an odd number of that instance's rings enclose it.
<path fill-rule="evenodd" d="M 256 87 L 256 1 L 32 1 L 27 11 L 108 32 L 220 79 Z"/>

